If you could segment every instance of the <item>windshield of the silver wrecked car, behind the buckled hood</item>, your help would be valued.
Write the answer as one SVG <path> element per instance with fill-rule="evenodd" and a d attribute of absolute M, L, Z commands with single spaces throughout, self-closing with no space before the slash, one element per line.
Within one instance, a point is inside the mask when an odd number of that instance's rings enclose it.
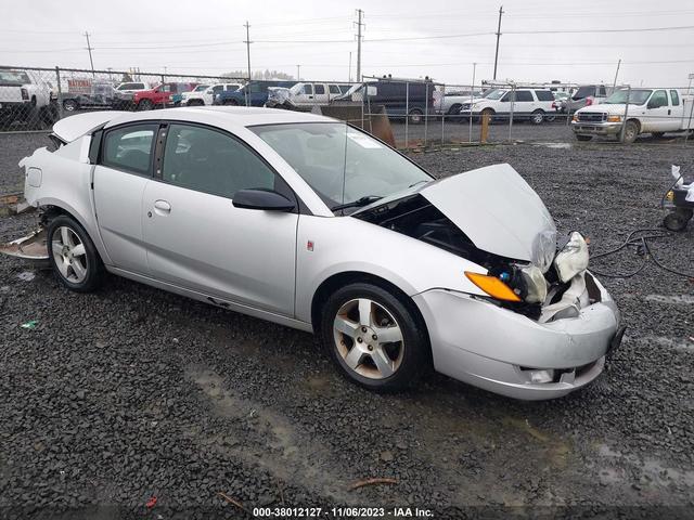
<path fill-rule="evenodd" d="M 332 209 L 387 197 L 432 180 L 428 173 L 369 134 L 344 122 L 250 127 Z"/>

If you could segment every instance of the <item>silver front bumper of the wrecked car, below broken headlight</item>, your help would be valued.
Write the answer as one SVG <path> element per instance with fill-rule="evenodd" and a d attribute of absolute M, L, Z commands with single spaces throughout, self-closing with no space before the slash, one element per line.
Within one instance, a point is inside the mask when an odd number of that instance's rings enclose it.
<path fill-rule="evenodd" d="M 617 306 L 592 280 L 600 294 L 593 303 L 576 317 L 548 323 L 461 292 L 432 289 L 414 296 L 428 328 L 434 367 L 523 400 L 558 398 L 588 385 L 602 373 L 605 355 L 624 333 Z M 530 369 L 554 370 L 554 377 L 532 382 Z"/>

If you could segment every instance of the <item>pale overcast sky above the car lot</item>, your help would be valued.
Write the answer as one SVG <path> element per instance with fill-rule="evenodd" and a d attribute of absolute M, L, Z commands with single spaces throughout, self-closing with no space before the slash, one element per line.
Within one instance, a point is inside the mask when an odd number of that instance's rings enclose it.
<path fill-rule="evenodd" d="M 499 79 L 612 82 L 619 58 L 633 86 L 685 87 L 694 72 L 692 0 L 3 1 L 0 64 L 89 68 L 88 30 L 97 69 L 245 70 L 247 20 L 253 70 L 344 81 L 360 8 L 362 74 L 470 83 L 474 62 L 477 82 L 492 77 L 501 3 Z"/>

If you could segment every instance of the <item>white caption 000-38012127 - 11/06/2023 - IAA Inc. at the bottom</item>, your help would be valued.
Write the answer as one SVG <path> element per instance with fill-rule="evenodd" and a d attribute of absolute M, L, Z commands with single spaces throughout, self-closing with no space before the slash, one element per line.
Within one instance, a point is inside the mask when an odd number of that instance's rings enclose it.
<path fill-rule="evenodd" d="M 257 518 L 433 518 L 419 507 L 254 507 Z"/>

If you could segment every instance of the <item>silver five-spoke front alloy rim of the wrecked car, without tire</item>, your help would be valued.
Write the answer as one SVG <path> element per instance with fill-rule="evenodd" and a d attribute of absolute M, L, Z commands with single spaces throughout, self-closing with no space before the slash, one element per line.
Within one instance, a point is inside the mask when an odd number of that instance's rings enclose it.
<path fill-rule="evenodd" d="M 404 340 L 398 322 L 369 298 L 349 300 L 339 308 L 333 335 L 345 365 L 363 377 L 386 379 L 402 363 Z"/>

